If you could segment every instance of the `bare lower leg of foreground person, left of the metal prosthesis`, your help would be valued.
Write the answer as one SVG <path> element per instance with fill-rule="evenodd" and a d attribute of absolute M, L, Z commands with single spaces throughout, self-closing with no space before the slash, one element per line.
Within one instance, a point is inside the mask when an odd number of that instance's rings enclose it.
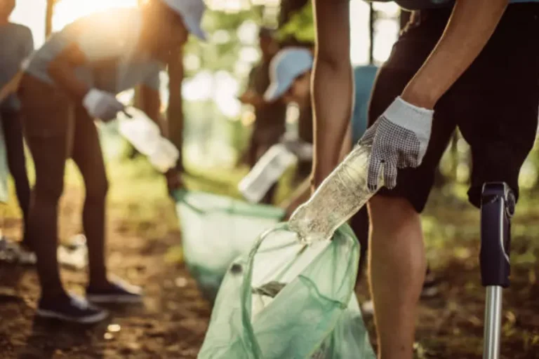
<path fill-rule="evenodd" d="M 425 280 L 420 217 L 403 198 L 375 196 L 369 211 L 369 275 L 379 358 L 411 359 L 417 305 Z"/>

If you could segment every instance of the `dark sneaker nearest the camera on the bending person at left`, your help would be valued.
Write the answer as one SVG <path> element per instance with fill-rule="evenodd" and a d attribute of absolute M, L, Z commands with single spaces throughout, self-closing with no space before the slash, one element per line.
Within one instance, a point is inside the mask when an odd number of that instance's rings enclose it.
<path fill-rule="evenodd" d="M 72 323 L 93 324 L 107 318 L 108 313 L 88 303 L 86 299 L 68 294 L 58 301 L 39 302 L 36 316 Z"/>

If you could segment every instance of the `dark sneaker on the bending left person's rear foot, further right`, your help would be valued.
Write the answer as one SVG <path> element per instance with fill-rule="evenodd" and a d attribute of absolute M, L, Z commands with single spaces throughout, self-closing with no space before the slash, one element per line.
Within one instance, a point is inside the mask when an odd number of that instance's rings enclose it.
<path fill-rule="evenodd" d="M 142 289 L 119 278 L 109 280 L 109 287 L 103 290 L 86 289 L 86 298 L 98 304 L 128 304 L 142 302 Z"/>

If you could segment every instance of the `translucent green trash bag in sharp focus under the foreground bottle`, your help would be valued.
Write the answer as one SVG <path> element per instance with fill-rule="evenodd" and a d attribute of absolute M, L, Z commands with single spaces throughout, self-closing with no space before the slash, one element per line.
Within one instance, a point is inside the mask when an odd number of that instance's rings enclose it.
<path fill-rule="evenodd" d="M 229 267 L 201 359 L 374 359 L 354 284 L 359 243 L 349 226 L 302 244 L 280 224 Z"/>

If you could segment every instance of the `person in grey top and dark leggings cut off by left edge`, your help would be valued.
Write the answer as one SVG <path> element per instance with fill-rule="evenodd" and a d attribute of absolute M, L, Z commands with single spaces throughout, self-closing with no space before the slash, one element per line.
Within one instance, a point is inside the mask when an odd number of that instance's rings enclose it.
<path fill-rule="evenodd" d="M 0 0 L 0 88 L 17 76 L 20 65 L 34 50 L 34 39 L 29 28 L 9 21 L 15 9 L 15 0 Z M 18 252 L 18 262 L 34 264 L 32 243 L 28 231 L 30 185 L 26 170 L 25 145 L 22 140 L 20 101 L 15 93 L 0 99 L 0 129 L 4 131 L 9 172 L 15 182 L 15 190 L 22 212 L 22 241 L 10 243 Z M 15 248 L 17 247 L 17 248 Z"/>

